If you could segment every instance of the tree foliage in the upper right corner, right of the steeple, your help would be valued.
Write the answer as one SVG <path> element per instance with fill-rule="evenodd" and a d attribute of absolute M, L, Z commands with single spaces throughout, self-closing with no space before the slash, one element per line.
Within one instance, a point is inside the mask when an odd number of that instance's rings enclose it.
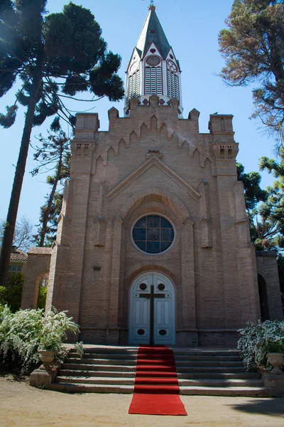
<path fill-rule="evenodd" d="M 255 112 L 283 144 L 284 2 L 235 0 L 219 33 L 226 61 L 221 76 L 229 85 L 258 83 L 253 89 Z"/>

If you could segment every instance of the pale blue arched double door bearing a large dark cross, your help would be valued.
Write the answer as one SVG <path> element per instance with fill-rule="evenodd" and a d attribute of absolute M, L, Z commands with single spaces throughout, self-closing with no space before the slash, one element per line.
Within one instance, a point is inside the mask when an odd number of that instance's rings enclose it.
<path fill-rule="evenodd" d="M 130 292 L 130 344 L 175 344 L 175 292 L 160 273 L 145 273 Z"/>

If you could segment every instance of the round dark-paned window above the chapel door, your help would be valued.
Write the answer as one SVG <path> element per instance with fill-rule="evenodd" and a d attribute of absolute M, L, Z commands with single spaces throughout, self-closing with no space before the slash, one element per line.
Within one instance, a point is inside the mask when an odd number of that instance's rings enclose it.
<path fill-rule="evenodd" d="M 148 215 L 140 218 L 133 227 L 136 246 L 146 253 L 161 253 L 170 248 L 175 233 L 172 224 L 163 216 Z"/>

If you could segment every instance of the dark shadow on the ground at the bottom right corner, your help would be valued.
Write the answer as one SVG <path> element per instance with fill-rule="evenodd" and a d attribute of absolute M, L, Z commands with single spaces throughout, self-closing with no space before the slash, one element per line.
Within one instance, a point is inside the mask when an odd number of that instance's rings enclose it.
<path fill-rule="evenodd" d="M 284 418 L 284 398 L 274 397 L 269 399 L 256 399 L 245 404 L 229 405 L 236 411 L 246 413 L 260 413 L 261 415 L 283 416 Z M 284 425 L 284 421 L 283 421 Z"/>

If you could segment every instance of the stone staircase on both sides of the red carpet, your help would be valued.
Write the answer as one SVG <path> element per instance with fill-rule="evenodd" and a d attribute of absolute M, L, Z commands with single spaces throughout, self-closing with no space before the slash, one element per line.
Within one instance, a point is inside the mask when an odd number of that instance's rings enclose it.
<path fill-rule="evenodd" d="M 229 349 L 176 349 L 180 394 L 267 396 L 263 381 L 245 371 L 239 352 Z M 67 355 L 50 389 L 75 393 L 133 393 L 138 347 L 85 345 L 80 359 Z"/>

